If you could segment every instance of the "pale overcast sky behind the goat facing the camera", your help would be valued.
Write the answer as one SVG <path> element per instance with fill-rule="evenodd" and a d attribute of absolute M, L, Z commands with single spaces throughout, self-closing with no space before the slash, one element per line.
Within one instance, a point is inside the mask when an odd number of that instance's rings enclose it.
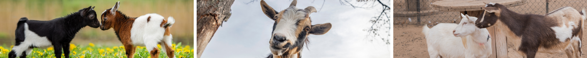
<path fill-rule="evenodd" d="M 261 12 L 260 0 L 236 0 L 232 4 L 232 16 L 218 28 L 201 58 L 265 58 L 270 52 L 269 39 L 273 20 Z M 292 1 L 265 1 L 278 12 L 288 8 Z M 363 31 L 372 24 L 371 17 L 378 16 L 381 5 L 373 9 L 353 8 L 341 5 L 338 0 L 299 0 L 298 9 L 314 6 L 312 24 L 331 23 L 330 31 L 323 35 L 309 35 L 308 48 L 303 48 L 305 58 L 390 58 L 390 45 L 381 40 L 365 39 Z M 356 1 L 354 1 L 356 2 Z M 388 0 L 383 3 L 390 5 Z M 321 10 L 322 9 L 322 10 Z M 387 34 L 384 34 L 387 35 Z"/>

